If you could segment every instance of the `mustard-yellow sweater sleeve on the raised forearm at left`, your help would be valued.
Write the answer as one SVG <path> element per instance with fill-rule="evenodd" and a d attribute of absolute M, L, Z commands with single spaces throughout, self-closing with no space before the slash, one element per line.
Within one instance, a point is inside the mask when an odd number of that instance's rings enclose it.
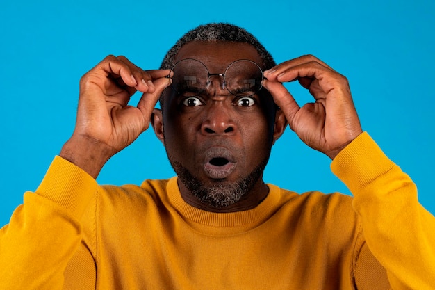
<path fill-rule="evenodd" d="M 0 229 L 0 289 L 63 289 L 72 258 L 90 256 L 83 254 L 79 220 L 96 190 L 95 179 L 55 157 L 35 193 L 24 194 Z"/>

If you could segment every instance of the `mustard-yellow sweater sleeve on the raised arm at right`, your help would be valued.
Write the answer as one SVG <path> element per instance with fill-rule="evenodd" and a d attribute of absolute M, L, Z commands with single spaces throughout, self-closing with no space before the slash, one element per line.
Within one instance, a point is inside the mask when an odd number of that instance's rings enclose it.
<path fill-rule="evenodd" d="M 418 202 L 416 184 L 364 132 L 331 169 L 354 195 L 370 252 L 393 289 L 435 289 L 435 218 Z"/>

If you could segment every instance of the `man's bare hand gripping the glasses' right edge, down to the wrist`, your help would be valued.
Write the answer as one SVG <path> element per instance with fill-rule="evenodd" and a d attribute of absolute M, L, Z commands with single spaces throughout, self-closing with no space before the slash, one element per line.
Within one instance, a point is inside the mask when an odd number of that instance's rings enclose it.
<path fill-rule="evenodd" d="M 331 159 L 356 136 L 361 124 L 354 108 L 349 83 L 315 56 L 301 56 L 265 71 L 263 86 L 286 115 L 290 128 L 306 145 Z M 315 102 L 299 106 L 282 85 L 299 81 Z"/>

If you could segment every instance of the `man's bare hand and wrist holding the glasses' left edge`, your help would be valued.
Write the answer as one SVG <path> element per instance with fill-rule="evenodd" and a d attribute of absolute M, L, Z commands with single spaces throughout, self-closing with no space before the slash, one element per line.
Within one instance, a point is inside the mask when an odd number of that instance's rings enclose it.
<path fill-rule="evenodd" d="M 124 56 L 107 56 L 80 81 L 76 128 L 60 156 L 96 178 L 111 156 L 148 129 L 170 70 L 142 70 Z M 138 105 L 130 97 L 143 92 Z"/>

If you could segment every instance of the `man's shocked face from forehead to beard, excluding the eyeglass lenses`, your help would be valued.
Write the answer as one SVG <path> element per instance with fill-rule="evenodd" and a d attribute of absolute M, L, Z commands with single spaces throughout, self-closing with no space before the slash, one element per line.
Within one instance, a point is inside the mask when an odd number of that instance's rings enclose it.
<path fill-rule="evenodd" d="M 223 73 L 240 59 L 263 63 L 251 45 L 231 42 L 190 42 L 175 61 L 185 58 L 201 61 L 211 74 Z M 263 169 L 274 138 L 274 104 L 270 95 L 231 95 L 222 88 L 222 76 L 213 75 L 210 81 L 199 95 L 167 88 L 163 136 L 184 196 L 188 193 L 208 207 L 224 208 L 264 188 Z"/>

